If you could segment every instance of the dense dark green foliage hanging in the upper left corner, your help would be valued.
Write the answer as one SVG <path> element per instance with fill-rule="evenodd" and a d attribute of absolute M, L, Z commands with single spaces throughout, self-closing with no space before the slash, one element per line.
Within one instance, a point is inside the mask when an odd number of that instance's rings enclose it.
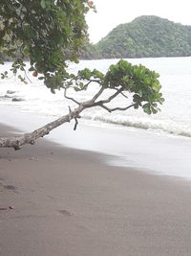
<path fill-rule="evenodd" d="M 59 87 L 66 52 L 77 61 L 87 40 L 85 13 L 90 8 L 93 3 L 87 0 L 1 0 L 0 49 L 16 58 L 13 73 L 25 68 L 23 58 L 29 56 L 31 70 L 43 74 L 48 87 Z"/>

